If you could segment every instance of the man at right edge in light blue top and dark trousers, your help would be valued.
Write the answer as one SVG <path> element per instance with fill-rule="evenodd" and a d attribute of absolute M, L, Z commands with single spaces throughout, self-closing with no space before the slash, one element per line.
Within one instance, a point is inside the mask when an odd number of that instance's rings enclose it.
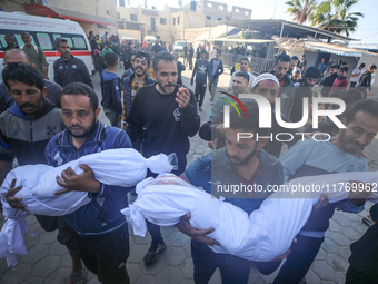
<path fill-rule="evenodd" d="M 346 114 L 345 121 L 346 129 L 341 129 L 329 141 L 309 138 L 286 151 L 280 158 L 285 180 L 301 176 L 367 170 L 366 158 L 357 155 L 378 133 L 378 102 L 368 99 L 355 102 Z M 367 197 L 349 195 L 349 199 L 331 203 L 312 212 L 273 283 L 300 283 L 320 249 L 335 208 L 359 213 L 364 209 Z"/>

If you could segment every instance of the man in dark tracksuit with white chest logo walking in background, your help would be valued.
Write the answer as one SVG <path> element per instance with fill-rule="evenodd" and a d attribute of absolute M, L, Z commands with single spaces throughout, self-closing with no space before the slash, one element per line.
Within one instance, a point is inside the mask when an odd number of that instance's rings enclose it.
<path fill-rule="evenodd" d="M 202 110 L 202 104 L 206 92 L 207 77 L 209 77 L 209 85 L 211 85 L 211 66 L 208 60 L 206 60 L 207 52 L 201 50 L 201 59 L 198 59 L 195 63 L 193 72 L 191 74 L 191 82 L 193 86 L 193 80 L 196 76 L 196 97 L 199 106 L 199 110 Z"/>

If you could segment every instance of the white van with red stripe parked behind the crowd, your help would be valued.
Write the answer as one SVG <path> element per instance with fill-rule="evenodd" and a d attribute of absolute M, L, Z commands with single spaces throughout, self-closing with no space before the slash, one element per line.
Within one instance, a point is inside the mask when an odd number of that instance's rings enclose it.
<path fill-rule="evenodd" d="M 7 47 L 4 37 L 8 33 L 16 38 L 19 47 L 24 46 L 21 39 L 23 31 L 30 33 L 32 45 L 41 47 L 44 51 L 49 62 L 50 80 L 53 80 L 53 62 L 60 58 L 60 53 L 54 48 L 54 39 L 59 37 L 68 40 L 72 56 L 83 60 L 90 74 L 94 71 L 92 51 L 79 23 L 70 20 L 29 16 L 22 12 L 0 12 L 0 49 Z M 0 81 L 2 81 L 3 55 L 4 51 L 0 50 Z"/>

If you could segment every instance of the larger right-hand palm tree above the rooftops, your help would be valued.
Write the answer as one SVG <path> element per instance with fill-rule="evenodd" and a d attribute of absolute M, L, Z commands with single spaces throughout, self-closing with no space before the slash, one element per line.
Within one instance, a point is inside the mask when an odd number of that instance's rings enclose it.
<path fill-rule="evenodd" d="M 311 26 L 349 37 L 356 30 L 358 20 L 364 17 L 360 12 L 349 12 L 357 2 L 358 0 L 326 0 L 317 4 L 309 16 Z"/>

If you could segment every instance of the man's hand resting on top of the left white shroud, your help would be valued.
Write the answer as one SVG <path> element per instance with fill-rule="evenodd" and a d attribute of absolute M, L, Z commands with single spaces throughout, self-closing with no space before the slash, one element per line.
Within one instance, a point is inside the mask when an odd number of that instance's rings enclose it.
<path fill-rule="evenodd" d="M 87 165 L 80 165 L 80 168 L 84 172 L 77 175 L 71 167 L 68 167 L 61 172 L 61 177 L 57 176 L 58 185 L 64 187 L 61 190 L 54 193 L 54 195 L 68 193 L 71 190 L 98 193 L 101 184 L 94 178 L 94 174 Z"/>

